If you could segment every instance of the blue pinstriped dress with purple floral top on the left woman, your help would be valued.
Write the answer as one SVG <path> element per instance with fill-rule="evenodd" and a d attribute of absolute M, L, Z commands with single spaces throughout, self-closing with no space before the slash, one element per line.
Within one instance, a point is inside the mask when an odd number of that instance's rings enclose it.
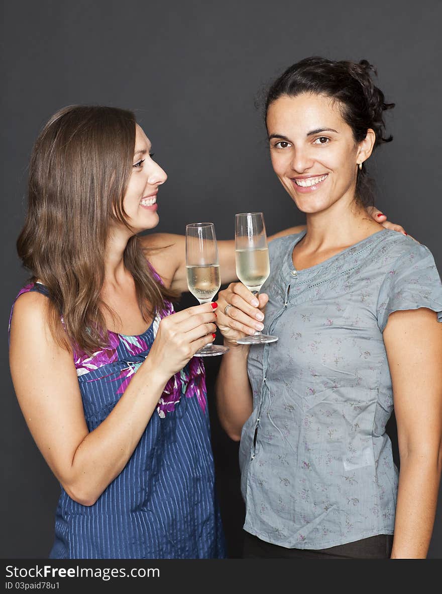
<path fill-rule="evenodd" d="M 32 283 L 17 297 L 28 291 L 48 296 L 46 287 Z M 93 356 L 74 352 L 89 431 L 116 405 L 148 355 L 160 319 L 171 313 L 166 302 L 143 334 L 110 332 L 106 349 Z M 77 503 L 62 488 L 49 557 L 225 557 L 200 358 L 170 378 L 128 463 L 94 505 Z"/>

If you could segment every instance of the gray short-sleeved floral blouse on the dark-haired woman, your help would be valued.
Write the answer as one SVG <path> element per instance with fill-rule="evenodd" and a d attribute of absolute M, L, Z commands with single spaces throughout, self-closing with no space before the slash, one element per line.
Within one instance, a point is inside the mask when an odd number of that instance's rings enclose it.
<path fill-rule="evenodd" d="M 385 426 L 393 409 L 382 332 L 421 307 L 442 321 L 431 252 L 387 229 L 297 271 L 305 235 L 269 245 L 265 332 L 250 347 L 253 413 L 240 445 L 244 529 L 288 548 L 392 534 L 398 469 Z"/>

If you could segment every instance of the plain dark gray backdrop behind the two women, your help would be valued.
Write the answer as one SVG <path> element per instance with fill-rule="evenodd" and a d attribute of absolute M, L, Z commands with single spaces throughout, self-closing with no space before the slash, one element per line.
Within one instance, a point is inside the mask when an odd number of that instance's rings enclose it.
<path fill-rule="evenodd" d="M 6 336 L 11 302 L 26 279 L 15 239 L 40 127 L 72 103 L 133 109 L 169 176 L 159 194 L 158 230 L 183 233 L 187 222 L 213 220 L 218 238 L 231 238 L 234 213 L 262 210 L 272 233 L 303 223 L 303 216 L 271 170 L 254 108 L 257 92 L 309 55 L 367 58 L 379 70 L 386 99 L 397 104 L 387 116 L 395 140 L 370 159 L 376 204 L 428 245 L 440 269 L 442 10 L 438 0 L 9 1 L 3 10 L 0 556 L 45 557 L 59 487 L 15 400 Z M 193 303 L 183 299 L 183 305 Z M 206 368 L 222 515 L 236 557 L 244 513 L 237 444 L 217 424 L 217 362 Z M 390 431 L 394 438 L 393 423 Z M 440 504 L 430 547 L 434 558 L 442 558 L 441 520 Z"/>

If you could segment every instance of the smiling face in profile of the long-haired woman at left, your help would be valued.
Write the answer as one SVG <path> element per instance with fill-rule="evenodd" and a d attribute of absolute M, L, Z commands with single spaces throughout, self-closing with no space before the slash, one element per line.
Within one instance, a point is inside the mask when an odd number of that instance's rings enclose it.
<path fill-rule="evenodd" d="M 136 124 L 132 172 L 123 198 L 128 224 L 136 233 L 158 225 L 158 187 L 167 179 L 166 172 L 152 160 L 150 150 L 149 139 Z"/>

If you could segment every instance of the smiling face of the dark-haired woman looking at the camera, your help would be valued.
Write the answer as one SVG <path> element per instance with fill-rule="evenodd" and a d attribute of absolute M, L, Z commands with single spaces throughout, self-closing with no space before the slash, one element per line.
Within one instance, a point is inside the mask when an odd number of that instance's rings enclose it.
<path fill-rule="evenodd" d="M 301 211 L 354 200 L 358 163 L 373 150 L 373 130 L 355 143 L 339 106 L 310 93 L 282 95 L 269 106 L 266 122 L 273 168 Z"/>

